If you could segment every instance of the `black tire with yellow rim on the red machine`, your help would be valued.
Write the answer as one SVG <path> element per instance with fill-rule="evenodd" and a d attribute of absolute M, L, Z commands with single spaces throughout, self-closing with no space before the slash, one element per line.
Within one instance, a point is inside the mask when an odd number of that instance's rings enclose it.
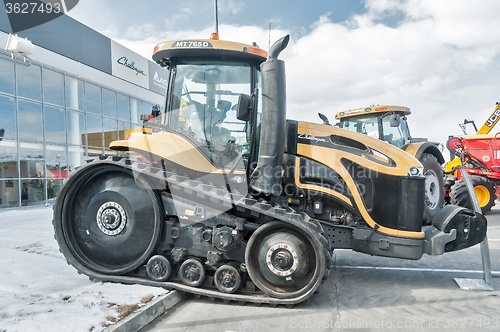
<path fill-rule="evenodd" d="M 491 211 L 491 208 L 495 206 L 495 186 L 488 179 L 482 176 L 472 175 L 470 176 L 470 179 L 472 181 L 472 185 L 474 186 L 479 206 L 481 207 L 481 213 L 485 214 Z M 455 182 L 455 184 L 451 187 L 450 201 L 451 204 L 474 210 L 464 178 Z"/>

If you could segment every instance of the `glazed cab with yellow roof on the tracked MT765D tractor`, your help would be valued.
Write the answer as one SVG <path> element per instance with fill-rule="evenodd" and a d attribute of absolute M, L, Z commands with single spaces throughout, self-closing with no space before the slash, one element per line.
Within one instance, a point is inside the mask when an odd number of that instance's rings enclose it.
<path fill-rule="evenodd" d="M 257 112 L 238 113 L 238 101 L 240 95 L 259 100 L 266 57 L 256 46 L 212 39 L 159 44 L 153 59 L 170 71 L 164 130 L 184 137 L 216 167 L 231 168 L 248 155 L 260 119 Z"/>

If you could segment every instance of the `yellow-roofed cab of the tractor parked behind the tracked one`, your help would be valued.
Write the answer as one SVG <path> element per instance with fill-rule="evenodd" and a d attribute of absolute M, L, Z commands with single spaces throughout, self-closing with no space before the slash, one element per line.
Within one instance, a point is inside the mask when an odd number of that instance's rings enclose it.
<path fill-rule="evenodd" d="M 371 136 L 399 148 L 410 143 L 406 122 L 410 109 L 401 106 L 370 106 L 335 115 L 340 128 Z"/>

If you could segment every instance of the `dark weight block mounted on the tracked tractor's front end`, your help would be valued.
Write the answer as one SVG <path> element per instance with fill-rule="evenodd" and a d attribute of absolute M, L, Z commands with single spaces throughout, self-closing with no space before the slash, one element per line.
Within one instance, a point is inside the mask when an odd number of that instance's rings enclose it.
<path fill-rule="evenodd" d="M 425 253 L 440 255 L 481 243 L 487 230 L 486 218 L 472 210 L 446 205 L 425 230 Z M 444 249 L 444 250 L 443 250 Z"/>

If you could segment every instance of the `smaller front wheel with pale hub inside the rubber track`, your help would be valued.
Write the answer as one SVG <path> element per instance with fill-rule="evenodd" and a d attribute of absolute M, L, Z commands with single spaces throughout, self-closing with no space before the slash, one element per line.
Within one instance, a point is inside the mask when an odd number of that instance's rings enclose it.
<path fill-rule="evenodd" d="M 282 299 L 318 288 L 325 266 L 323 251 L 307 233 L 282 222 L 270 222 L 255 231 L 245 261 L 254 284 Z"/>

